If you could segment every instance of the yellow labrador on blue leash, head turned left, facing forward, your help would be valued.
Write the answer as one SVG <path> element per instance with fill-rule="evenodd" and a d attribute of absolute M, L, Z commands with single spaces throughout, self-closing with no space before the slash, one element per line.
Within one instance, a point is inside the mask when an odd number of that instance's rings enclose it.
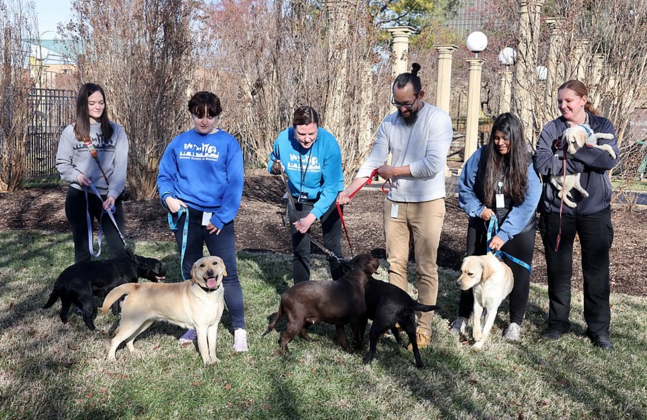
<path fill-rule="evenodd" d="M 512 270 L 500 261 L 494 254 L 472 255 L 463 259 L 461 275 L 456 281 L 461 290 L 474 291 L 474 311 L 472 325 L 474 326 L 474 349 L 483 348 L 485 339 L 490 334 L 496 312 L 501 301 L 512 291 L 514 280 Z M 485 325 L 481 332 L 481 314 L 485 308 Z"/>

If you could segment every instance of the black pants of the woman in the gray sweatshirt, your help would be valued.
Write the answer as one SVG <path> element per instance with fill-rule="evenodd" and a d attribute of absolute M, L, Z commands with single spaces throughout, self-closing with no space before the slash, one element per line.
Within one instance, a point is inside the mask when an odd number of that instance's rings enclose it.
<path fill-rule="evenodd" d="M 102 196 L 103 200 L 106 198 Z M 94 220 L 99 220 L 101 216 L 103 204 L 96 195 L 88 192 L 87 211 L 90 213 L 90 220 L 93 225 Z M 119 230 L 124 234 L 126 228 L 124 227 L 124 207 L 122 206 L 121 200 L 116 200 L 115 207 L 116 211 L 113 216 L 115 216 L 115 222 L 117 222 Z M 69 187 L 67 189 L 67 196 L 65 197 L 65 216 L 67 216 L 70 229 L 72 229 L 72 238 L 74 238 L 74 262 L 89 261 L 91 258 L 85 208 L 85 192 Z M 108 215 L 104 215 L 101 219 L 101 227 L 104 231 L 105 241 L 108 244 L 111 257 L 124 255 L 126 253 L 124 242 L 119 237 L 115 224 L 113 224 L 113 221 Z"/>

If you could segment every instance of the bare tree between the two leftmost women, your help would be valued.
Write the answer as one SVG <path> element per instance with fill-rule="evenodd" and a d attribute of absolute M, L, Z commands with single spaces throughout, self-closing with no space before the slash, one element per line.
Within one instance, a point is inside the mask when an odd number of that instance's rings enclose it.
<path fill-rule="evenodd" d="M 128 182 L 153 198 L 168 142 L 186 127 L 193 73 L 191 25 L 197 1 L 74 0 L 67 35 L 76 41 L 78 80 L 106 91 L 109 116 L 130 143 Z"/>

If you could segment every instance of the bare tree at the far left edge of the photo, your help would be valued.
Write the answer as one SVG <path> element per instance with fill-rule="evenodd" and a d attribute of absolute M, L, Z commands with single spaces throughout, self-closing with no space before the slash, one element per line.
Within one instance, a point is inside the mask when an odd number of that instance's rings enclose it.
<path fill-rule="evenodd" d="M 38 38 L 33 5 L 0 0 L 0 191 L 16 191 L 27 175 L 31 120 L 30 45 Z"/>

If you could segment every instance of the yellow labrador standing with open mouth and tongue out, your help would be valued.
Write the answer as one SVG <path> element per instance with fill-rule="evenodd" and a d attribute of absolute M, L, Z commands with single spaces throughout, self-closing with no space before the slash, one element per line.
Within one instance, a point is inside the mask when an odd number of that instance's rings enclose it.
<path fill-rule="evenodd" d="M 223 276 L 225 263 L 219 257 L 204 257 L 193 264 L 191 279 L 182 283 L 127 283 L 114 288 L 104 300 L 107 312 L 120 297 L 122 307 L 118 332 L 110 343 L 108 358 L 115 360 L 117 347 L 126 342 L 133 353 L 133 340 L 153 321 L 162 320 L 197 331 L 198 349 L 204 364 L 219 362 L 215 356 L 218 323 L 225 309 Z"/>

